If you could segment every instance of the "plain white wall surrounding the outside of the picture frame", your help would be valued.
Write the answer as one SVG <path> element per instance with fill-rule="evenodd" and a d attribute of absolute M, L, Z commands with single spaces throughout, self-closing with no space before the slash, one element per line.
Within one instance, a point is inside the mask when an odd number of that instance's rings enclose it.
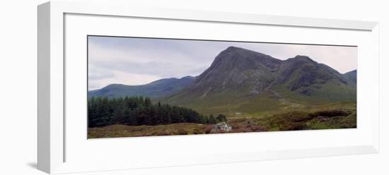
<path fill-rule="evenodd" d="M 0 4 L 0 174 L 45 174 L 37 164 L 37 8 L 42 0 Z M 381 152 L 374 155 L 286 159 L 132 170 L 126 174 L 389 174 L 389 12 L 386 1 L 164 0 L 137 6 L 373 20 L 381 23 Z M 89 174 L 115 174 L 115 171 Z"/>

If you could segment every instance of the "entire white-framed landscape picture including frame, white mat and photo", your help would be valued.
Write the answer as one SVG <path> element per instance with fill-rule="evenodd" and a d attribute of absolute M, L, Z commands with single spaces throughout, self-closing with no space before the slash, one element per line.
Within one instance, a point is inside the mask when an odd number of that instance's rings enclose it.
<path fill-rule="evenodd" d="M 38 169 L 378 152 L 378 44 L 375 22 L 42 4 Z"/>

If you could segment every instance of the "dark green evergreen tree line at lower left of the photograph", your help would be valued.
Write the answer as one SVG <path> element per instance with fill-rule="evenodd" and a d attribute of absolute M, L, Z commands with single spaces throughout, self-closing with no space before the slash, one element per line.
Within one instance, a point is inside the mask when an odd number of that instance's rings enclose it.
<path fill-rule="evenodd" d="M 88 127 L 112 124 L 130 126 L 170 123 L 219 123 L 226 116 L 205 116 L 185 107 L 170 104 L 152 104 L 150 97 L 91 97 L 88 99 Z"/>

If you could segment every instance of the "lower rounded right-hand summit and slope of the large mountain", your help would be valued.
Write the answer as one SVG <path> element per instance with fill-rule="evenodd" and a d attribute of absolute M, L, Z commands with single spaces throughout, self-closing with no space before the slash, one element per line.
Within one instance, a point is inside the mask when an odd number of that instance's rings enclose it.
<path fill-rule="evenodd" d="M 308 102 L 355 101 L 356 85 L 346 76 L 308 56 L 282 61 L 279 80 L 272 87 L 289 99 Z"/>

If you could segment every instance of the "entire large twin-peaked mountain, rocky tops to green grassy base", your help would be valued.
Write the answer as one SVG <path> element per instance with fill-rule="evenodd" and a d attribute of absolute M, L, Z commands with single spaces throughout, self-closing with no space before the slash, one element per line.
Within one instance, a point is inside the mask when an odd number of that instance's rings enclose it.
<path fill-rule="evenodd" d="M 297 104 L 356 101 L 348 74 L 308 56 L 284 61 L 239 47 L 228 47 L 192 85 L 162 98 L 203 113 L 257 111 Z"/>

